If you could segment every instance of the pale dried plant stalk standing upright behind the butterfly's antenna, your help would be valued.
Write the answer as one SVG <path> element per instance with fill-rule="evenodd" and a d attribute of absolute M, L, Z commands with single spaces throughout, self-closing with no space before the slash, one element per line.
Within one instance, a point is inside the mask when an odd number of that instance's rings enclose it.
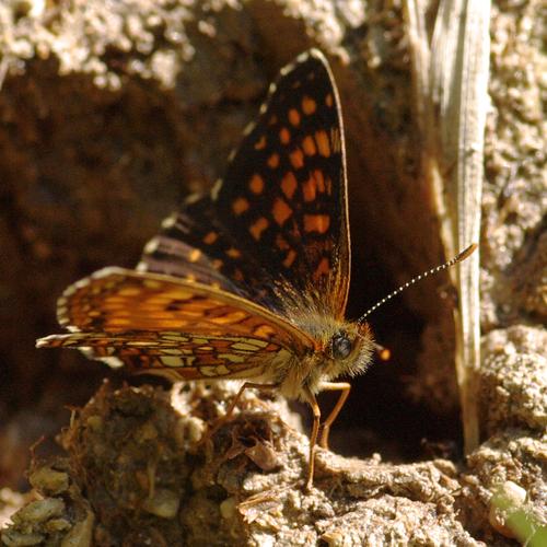
<path fill-rule="evenodd" d="M 416 114 L 423 139 L 422 172 L 433 193 L 446 255 L 453 256 L 479 238 L 490 2 L 441 1 L 431 39 L 426 8 L 420 0 L 406 3 Z M 455 361 L 469 453 L 479 443 L 479 254 L 452 275 L 459 295 Z"/>

